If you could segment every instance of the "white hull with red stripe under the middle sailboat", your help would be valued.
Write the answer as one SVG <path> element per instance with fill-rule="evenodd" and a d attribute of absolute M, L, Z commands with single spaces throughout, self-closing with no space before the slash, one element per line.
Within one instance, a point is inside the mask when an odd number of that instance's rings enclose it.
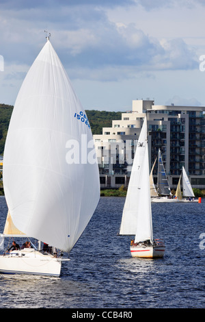
<path fill-rule="evenodd" d="M 164 243 L 159 243 L 159 245 L 132 245 L 131 255 L 132 257 L 138 258 L 160 258 L 165 254 Z"/>

